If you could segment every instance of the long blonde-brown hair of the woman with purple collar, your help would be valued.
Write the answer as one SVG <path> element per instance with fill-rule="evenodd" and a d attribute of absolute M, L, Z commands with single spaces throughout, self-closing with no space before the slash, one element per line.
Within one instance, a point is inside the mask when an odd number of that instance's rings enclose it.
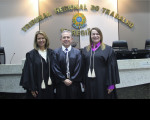
<path fill-rule="evenodd" d="M 96 30 L 96 31 L 99 33 L 99 35 L 100 35 L 100 37 L 101 37 L 101 39 L 100 39 L 100 43 L 101 43 L 100 47 L 101 47 L 102 50 L 104 50 L 106 46 L 105 46 L 105 44 L 103 43 L 103 34 L 102 34 L 102 32 L 101 32 L 101 30 L 100 30 L 99 28 L 95 27 L 95 28 L 92 28 L 92 29 L 90 30 L 90 44 L 86 47 L 87 51 L 90 51 L 91 45 L 92 45 L 92 43 L 93 43 L 93 42 L 92 42 L 92 38 L 91 38 L 92 30 Z"/>

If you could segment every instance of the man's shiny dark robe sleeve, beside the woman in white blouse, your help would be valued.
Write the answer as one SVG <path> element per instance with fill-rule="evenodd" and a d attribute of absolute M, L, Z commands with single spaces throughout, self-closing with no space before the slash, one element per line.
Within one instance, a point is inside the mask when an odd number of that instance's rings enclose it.
<path fill-rule="evenodd" d="M 52 56 L 52 71 L 54 73 L 54 79 L 57 83 L 66 80 L 66 77 L 61 72 L 55 52 L 53 52 L 53 56 Z"/>

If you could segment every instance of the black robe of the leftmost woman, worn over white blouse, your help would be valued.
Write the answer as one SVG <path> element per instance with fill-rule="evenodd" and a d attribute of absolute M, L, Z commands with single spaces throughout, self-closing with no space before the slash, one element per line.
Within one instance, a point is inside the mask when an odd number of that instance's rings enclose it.
<path fill-rule="evenodd" d="M 49 62 L 50 66 L 52 62 L 53 51 L 47 49 L 47 62 L 41 57 L 37 50 L 33 49 L 26 54 L 26 61 L 24 64 L 20 85 L 27 90 L 27 99 L 53 99 L 54 98 L 54 78 L 53 73 L 50 68 L 50 77 L 52 80 L 52 85 L 48 85 L 49 78 Z M 43 77 L 46 89 L 41 89 L 42 83 L 42 62 L 43 61 Z M 31 91 L 38 91 L 38 95 L 34 98 L 31 94 Z"/>

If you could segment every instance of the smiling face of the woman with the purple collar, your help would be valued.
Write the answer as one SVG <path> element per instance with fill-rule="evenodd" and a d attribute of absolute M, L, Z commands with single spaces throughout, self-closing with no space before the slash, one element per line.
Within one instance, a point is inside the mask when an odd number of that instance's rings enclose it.
<path fill-rule="evenodd" d="M 97 44 L 100 41 L 101 36 L 97 32 L 97 30 L 92 30 L 91 31 L 91 39 L 92 39 L 93 44 Z"/>

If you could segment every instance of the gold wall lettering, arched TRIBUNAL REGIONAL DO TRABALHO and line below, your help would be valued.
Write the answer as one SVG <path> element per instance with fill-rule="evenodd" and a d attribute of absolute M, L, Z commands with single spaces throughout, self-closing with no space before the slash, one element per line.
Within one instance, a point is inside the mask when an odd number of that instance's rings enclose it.
<path fill-rule="evenodd" d="M 87 10 L 86 4 L 81 4 L 81 5 L 68 5 L 68 6 L 63 6 L 63 7 L 59 7 L 59 8 L 55 8 L 55 13 L 56 14 L 60 14 L 66 11 L 79 11 L 79 10 Z M 95 5 L 91 5 L 90 10 L 92 11 L 102 11 L 102 13 L 107 14 L 109 16 L 114 17 L 115 19 L 118 19 L 119 21 L 121 21 L 122 23 L 124 23 L 125 25 L 129 26 L 129 28 L 132 28 L 134 26 L 134 23 L 132 23 L 130 20 L 126 19 L 124 16 L 119 15 L 118 13 L 115 13 L 114 11 L 111 11 L 110 9 L 107 8 L 102 8 L 100 9 L 99 6 L 95 6 Z M 80 14 L 80 13 L 78 13 Z M 35 25 L 36 23 L 38 23 L 41 20 L 44 20 L 47 17 L 51 17 L 52 15 L 49 12 L 43 13 L 43 15 L 39 15 L 38 17 L 32 19 L 29 23 L 27 23 L 24 27 L 22 27 L 22 30 L 24 32 L 26 32 L 28 29 L 30 29 L 33 25 Z M 78 21 L 80 21 L 80 19 L 78 19 Z M 86 19 L 85 19 L 86 21 Z M 81 24 L 80 24 L 81 25 Z M 83 24 L 86 25 L 86 24 Z M 77 29 L 81 29 L 81 26 L 77 26 Z M 61 32 L 64 30 L 63 28 L 60 29 Z M 72 34 L 73 35 L 89 35 L 89 31 L 90 28 L 88 28 L 87 30 L 72 30 Z"/>

